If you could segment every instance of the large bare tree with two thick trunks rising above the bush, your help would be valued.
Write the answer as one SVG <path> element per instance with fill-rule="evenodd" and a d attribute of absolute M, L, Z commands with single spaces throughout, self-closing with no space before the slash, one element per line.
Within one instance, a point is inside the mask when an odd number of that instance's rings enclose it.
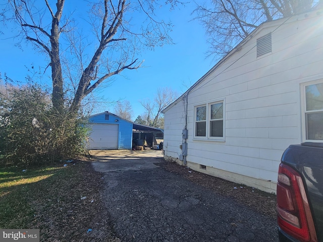
<path fill-rule="evenodd" d="M 76 112 L 84 97 L 102 82 L 124 70 L 139 68 L 142 62 L 135 55 L 142 46 L 153 48 L 172 42 L 168 35 L 171 23 L 155 19 L 158 1 L 84 1 L 90 7 L 88 17 L 83 13 L 83 18 L 77 18 L 75 13 L 64 14 L 66 2 L 69 1 L 8 0 L 0 13 L 4 24 L 13 20 L 20 27 L 18 36 L 47 55 L 52 104 L 58 111 L 66 107 L 68 94 L 68 107 Z M 176 0 L 166 2 L 176 5 Z M 142 19 L 133 19 L 136 13 Z M 82 32 L 80 26 L 87 28 Z"/>

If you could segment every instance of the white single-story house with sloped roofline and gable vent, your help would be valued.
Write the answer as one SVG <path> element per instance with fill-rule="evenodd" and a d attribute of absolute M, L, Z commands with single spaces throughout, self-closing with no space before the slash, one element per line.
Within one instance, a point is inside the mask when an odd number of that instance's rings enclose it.
<path fill-rule="evenodd" d="M 263 23 L 163 112 L 165 159 L 275 193 L 283 151 L 323 142 L 323 9 Z"/>

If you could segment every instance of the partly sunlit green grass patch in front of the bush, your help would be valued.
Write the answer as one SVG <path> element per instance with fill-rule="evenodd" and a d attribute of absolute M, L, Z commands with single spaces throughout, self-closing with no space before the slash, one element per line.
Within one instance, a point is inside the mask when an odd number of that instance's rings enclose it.
<path fill-rule="evenodd" d="M 36 212 L 32 201 L 43 198 L 41 191 L 67 172 L 60 167 L 22 170 L 18 167 L 0 169 L 1 228 L 28 228 Z"/>

